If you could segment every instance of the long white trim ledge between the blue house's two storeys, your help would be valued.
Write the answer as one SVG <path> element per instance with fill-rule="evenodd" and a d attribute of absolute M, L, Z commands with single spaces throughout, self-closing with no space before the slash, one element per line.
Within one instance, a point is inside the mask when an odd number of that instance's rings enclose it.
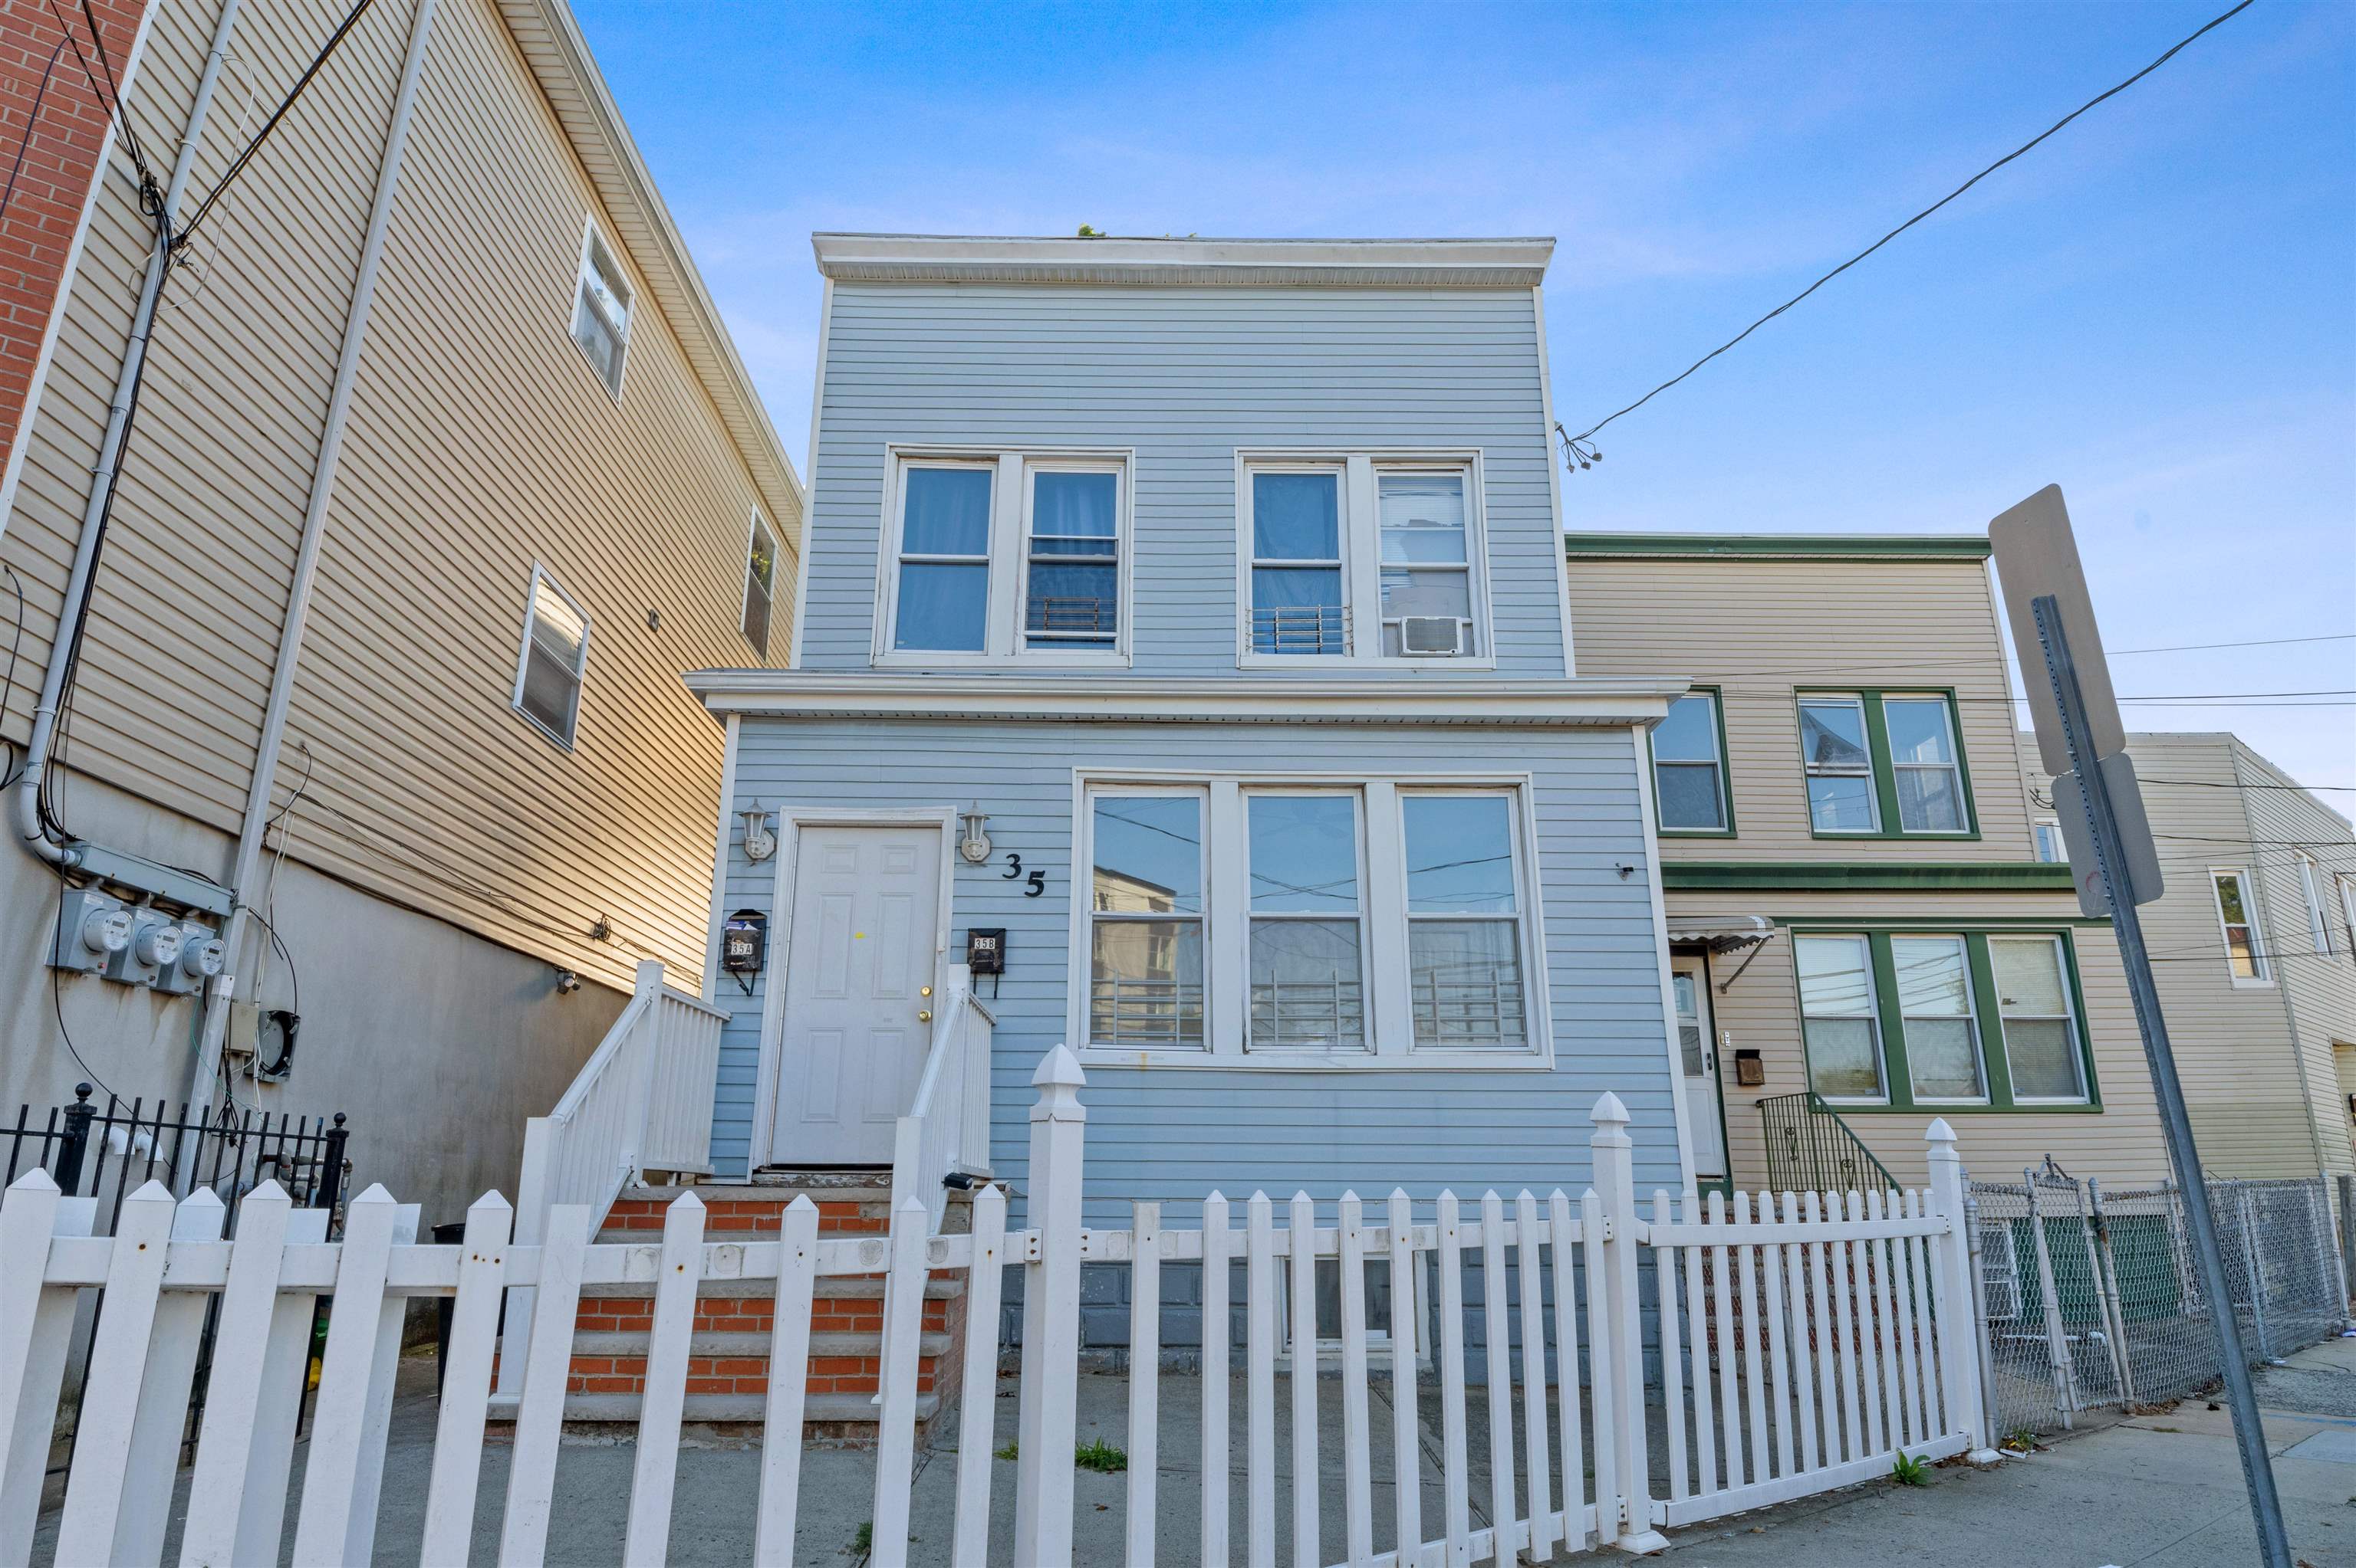
<path fill-rule="evenodd" d="M 1103 676 L 888 676 L 707 669 L 686 678 L 714 713 L 766 718 L 1060 718 L 1081 723 L 1635 725 L 1687 680 L 1166 680 Z"/>

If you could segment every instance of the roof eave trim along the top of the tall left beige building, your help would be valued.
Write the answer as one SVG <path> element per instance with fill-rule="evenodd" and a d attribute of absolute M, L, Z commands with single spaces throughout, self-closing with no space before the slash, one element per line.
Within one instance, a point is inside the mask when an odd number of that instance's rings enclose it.
<path fill-rule="evenodd" d="M 794 473 L 794 459 L 785 454 L 785 445 L 768 421 L 768 407 L 754 391 L 744 360 L 737 358 L 735 339 L 728 337 L 728 325 L 721 320 L 719 306 L 712 304 L 702 273 L 695 271 L 688 242 L 671 224 L 655 177 L 638 158 L 638 144 L 631 141 L 622 111 L 605 89 L 605 75 L 596 68 L 596 57 L 573 19 L 573 7 L 565 0 L 497 0 L 497 7 L 516 49 L 556 113 L 573 155 L 580 158 L 589 184 L 596 186 L 598 202 L 617 231 L 615 240 L 646 273 L 648 294 L 655 297 L 664 323 L 679 337 L 681 353 L 686 353 L 697 384 L 712 398 L 721 426 L 761 490 L 763 511 L 799 551 L 801 476 Z"/>

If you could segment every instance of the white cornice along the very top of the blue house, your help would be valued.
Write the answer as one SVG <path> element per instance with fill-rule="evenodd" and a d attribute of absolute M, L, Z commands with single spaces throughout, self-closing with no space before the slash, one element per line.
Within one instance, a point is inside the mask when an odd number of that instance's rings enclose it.
<path fill-rule="evenodd" d="M 846 283 L 1164 283 L 1296 287 L 1536 287 L 1553 240 L 1032 240 L 813 233 Z"/>

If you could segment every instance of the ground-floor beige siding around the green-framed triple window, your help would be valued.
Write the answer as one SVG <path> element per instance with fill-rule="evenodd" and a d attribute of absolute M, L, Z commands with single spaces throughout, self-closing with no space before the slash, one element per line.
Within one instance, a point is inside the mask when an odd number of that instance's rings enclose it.
<path fill-rule="evenodd" d="M 2109 925 L 2078 921 L 2078 899 L 2054 895 L 1934 895 L 1913 899 L 1866 895 L 1746 895 L 1741 899 L 1668 895 L 1668 918 L 1706 918 L 1765 913 L 1854 930 L 1878 930 L 1892 923 L 1941 921 L 1946 930 L 2069 930 L 2078 951 L 2078 979 L 2085 994 L 2087 1026 L 2094 1048 L 2099 1111 L 1852 1111 L 1842 1116 L 1890 1172 L 1906 1184 L 1925 1180 L 1922 1130 L 1932 1116 L 1946 1116 L 1955 1128 L 1963 1163 L 1974 1177 L 2019 1180 L 2021 1168 L 2052 1154 L 2073 1175 L 2104 1182 L 2158 1180 L 2168 1175 L 2168 1147 L 2160 1140 L 2158 1109 L 2151 1097 L 2151 1074 L 2144 1069 L 2142 1036 L 2127 1003 L 2127 979 L 2118 963 L 2118 942 Z M 1748 968 L 1743 968 L 1748 958 Z M 1720 991 L 1720 986 L 1725 986 Z M 1762 1187 L 1767 1151 L 1758 1102 L 1769 1095 L 1795 1095 L 1807 1088 L 1807 1055 L 1800 1041 L 1800 991 L 1791 963 L 1791 932 L 1779 930 L 1765 946 L 1710 958 L 1710 1008 L 1720 1036 L 1732 1043 L 1720 1052 L 1720 1095 L 1727 1107 L 1727 1151 L 1734 1182 Z M 1734 1050 L 1758 1050 L 1767 1083 L 1734 1083 Z"/>

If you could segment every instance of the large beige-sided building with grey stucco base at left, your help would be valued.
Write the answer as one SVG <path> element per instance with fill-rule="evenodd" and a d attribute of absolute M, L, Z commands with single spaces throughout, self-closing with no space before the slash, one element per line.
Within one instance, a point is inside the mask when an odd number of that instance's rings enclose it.
<path fill-rule="evenodd" d="M 344 14 L 240 7 L 184 210 L 250 134 L 238 106 L 276 104 Z M 219 16 L 219 0 L 165 0 L 123 61 L 151 158 L 188 134 Z M 12 772 L 151 233 L 118 148 L 0 494 L 0 563 L 26 596 L 0 713 Z M 591 245 L 627 301 L 617 374 L 575 341 Z M 238 996 L 292 1008 L 292 958 L 302 1052 L 283 1085 L 233 1057 L 229 1092 L 346 1111 L 363 1180 L 448 1208 L 514 1182 L 521 1116 L 549 1109 L 638 961 L 702 989 L 723 737 L 679 676 L 787 662 L 801 485 L 561 0 L 370 9 L 186 257 L 94 574 L 57 815 L 78 838 L 231 878 L 306 506 L 332 464 L 273 826 L 238 890 L 287 949 L 257 925 Z M 759 645 L 756 518 L 773 546 Z M 535 584 L 544 622 L 580 622 L 577 683 L 532 666 L 554 723 L 523 699 Z M 179 1099 L 198 1003 L 66 977 L 78 1064 L 45 977 L 61 881 L 14 850 L 0 878 L 0 1099 L 40 1107 L 85 1076 Z"/>

